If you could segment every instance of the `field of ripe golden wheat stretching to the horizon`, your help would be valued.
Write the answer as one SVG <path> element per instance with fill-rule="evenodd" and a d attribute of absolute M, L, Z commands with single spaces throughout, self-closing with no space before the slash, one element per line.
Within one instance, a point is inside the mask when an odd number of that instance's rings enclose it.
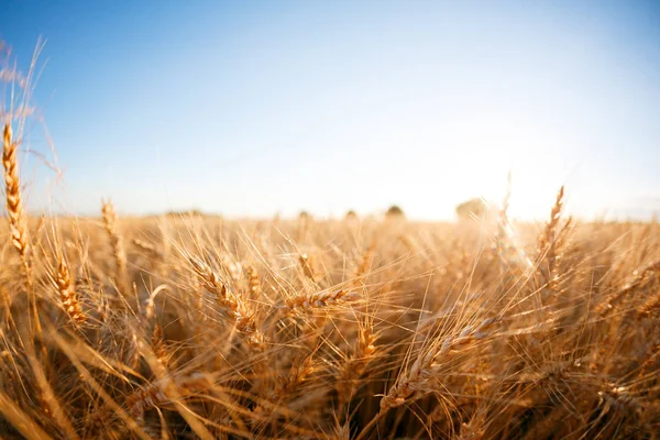
<path fill-rule="evenodd" d="M 660 431 L 660 227 L 34 218 L 4 130 L 0 435 Z"/>

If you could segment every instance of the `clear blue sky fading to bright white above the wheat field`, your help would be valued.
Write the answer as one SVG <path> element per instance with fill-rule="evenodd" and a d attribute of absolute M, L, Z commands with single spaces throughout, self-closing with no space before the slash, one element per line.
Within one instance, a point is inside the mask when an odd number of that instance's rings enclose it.
<path fill-rule="evenodd" d="M 521 217 L 660 211 L 658 1 L 4 0 L 40 36 L 32 209 L 443 219 L 512 169 Z"/>

